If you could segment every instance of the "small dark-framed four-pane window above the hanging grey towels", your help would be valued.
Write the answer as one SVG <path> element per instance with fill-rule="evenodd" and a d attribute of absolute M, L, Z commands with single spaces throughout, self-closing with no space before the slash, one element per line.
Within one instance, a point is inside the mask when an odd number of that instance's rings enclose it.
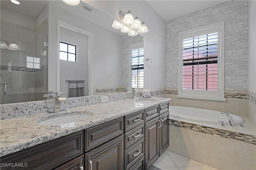
<path fill-rule="evenodd" d="M 60 60 L 76 62 L 76 45 L 60 42 Z"/>

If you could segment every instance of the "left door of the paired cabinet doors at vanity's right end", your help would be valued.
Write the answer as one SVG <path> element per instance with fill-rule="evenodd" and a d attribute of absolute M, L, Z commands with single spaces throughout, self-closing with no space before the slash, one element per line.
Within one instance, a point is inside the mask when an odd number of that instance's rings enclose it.
<path fill-rule="evenodd" d="M 148 169 L 159 157 L 159 117 L 145 123 L 146 168 Z"/>

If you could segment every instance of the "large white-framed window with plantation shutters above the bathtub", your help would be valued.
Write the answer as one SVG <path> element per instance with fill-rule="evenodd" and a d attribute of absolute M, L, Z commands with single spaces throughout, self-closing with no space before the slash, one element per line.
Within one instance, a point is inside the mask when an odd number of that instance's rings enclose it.
<path fill-rule="evenodd" d="M 224 100 L 224 23 L 179 33 L 178 97 Z"/>

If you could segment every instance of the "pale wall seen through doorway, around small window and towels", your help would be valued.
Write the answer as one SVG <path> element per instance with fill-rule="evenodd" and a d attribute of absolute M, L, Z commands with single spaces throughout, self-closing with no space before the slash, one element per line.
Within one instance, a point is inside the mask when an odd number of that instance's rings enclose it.
<path fill-rule="evenodd" d="M 60 60 L 60 91 L 67 98 L 68 82 L 65 80 L 85 80 L 84 96 L 88 96 L 88 36 L 61 27 L 60 41 L 76 45 L 77 48 L 77 62 Z"/>

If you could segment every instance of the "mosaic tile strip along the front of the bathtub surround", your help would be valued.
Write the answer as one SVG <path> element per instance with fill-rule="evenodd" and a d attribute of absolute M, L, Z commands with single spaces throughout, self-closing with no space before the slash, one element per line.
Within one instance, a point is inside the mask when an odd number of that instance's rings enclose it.
<path fill-rule="evenodd" d="M 169 125 L 256 145 L 256 136 L 169 119 Z"/>

